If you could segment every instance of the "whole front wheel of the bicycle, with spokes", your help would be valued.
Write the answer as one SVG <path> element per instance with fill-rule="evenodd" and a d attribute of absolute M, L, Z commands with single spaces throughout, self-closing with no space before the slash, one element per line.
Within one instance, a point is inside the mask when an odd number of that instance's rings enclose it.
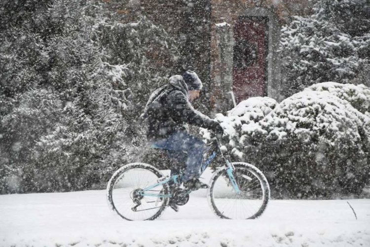
<path fill-rule="evenodd" d="M 225 219 L 254 219 L 265 210 L 270 199 L 270 188 L 263 173 L 248 163 L 232 163 L 233 176 L 240 193 L 237 193 L 226 172 L 216 172 L 208 189 L 208 202 L 215 214 Z"/>

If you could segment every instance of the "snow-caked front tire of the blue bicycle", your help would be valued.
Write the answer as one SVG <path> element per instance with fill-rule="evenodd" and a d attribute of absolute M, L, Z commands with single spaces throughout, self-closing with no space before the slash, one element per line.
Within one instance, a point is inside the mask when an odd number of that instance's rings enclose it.
<path fill-rule="evenodd" d="M 267 179 L 263 175 L 263 173 L 254 165 L 251 165 L 251 164 L 248 164 L 248 163 L 243 163 L 243 162 L 236 162 L 236 163 L 232 163 L 232 164 L 234 165 L 236 171 L 239 170 L 239 169 L 247 170 L 247 171 L 251 172 L 251 174 L 256 176 L 256 178 L 259 180 L 259 185 L 260 185 L 261 193 L 262 193 L 262 196 L 263 196 L 262 200 L 261 200 L 261 205 L 259 206 L 258 210 L 256 210 L 255 213 L 252 213 L 252 215 L 247 216 L 244 219 L 258 218 L 264 212 L 264 210 L 266 209 L 266 207 L 268 205 L 268 202 L 270 200 L 270 188 L 269 188 Z M 209 184 L 211 184 L 211 186 L 208 189 L 207 198 L 208 198 L 209 205 L 213 209 L 213 212 L 218 217 L 223 218 L 223 219 L 233 219 L 234 217 L 230 217 L 229 215 L 225 215 L 224 211 L 222 212 L 221 208 L 219 208 L 220 206 L 218 207 L 215 203 L 215 192 L 214 192 L 215 184 L 222 175 L 223 175 L 224 180 L 226 180 L 225 178 L 227 178 L 227 180 L 229 180 L 229 178 L 227 176 L 227 173 L 226 173 L 227 168 L 228 167 L 222 167 L 214 173 L 214 175 L 212 176 L 212 178 L 210 180 L 210 183 L 209 183 Z M 230 186 L 231 189 L 233 190 L 231 185 L 228 185 L 228 186 Z M 235 200 L 237 200 L 237 199 L 235 199 Z M 236 207 L 237 207 L 237 205 L 236 205 Z"/>

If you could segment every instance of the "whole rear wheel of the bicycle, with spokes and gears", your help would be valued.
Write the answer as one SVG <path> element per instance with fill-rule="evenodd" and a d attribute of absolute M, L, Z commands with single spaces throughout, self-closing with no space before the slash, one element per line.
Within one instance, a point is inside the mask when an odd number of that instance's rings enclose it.
<path fill-rule="evenodd" d="M 168 198 L 156 195 L 168 194 L 168 185 L 161 184 L 152 188 L 148 191 L 152 196 L 140 196 L 139 192 L 156 184 L 161 177 L 163 174 L 152 165 L 132 163 L 122 166 L 113 174 L 107 186 L 109 206 L 127 220 L 158 218 L 167 206 Z"/>

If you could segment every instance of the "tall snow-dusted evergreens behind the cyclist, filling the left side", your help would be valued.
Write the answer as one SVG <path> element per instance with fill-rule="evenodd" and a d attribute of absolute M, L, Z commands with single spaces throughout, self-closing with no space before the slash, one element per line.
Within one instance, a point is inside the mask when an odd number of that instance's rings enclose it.
<path fill-rule="evenodd" d="M 150 47 L 170 62 L 176 47 L 145 17 L 115 23 L 101 1 L 34 4 L 0 3 L 0 193 L 101 188 L 140 155 L 139 89 L 169 73 Z"/>

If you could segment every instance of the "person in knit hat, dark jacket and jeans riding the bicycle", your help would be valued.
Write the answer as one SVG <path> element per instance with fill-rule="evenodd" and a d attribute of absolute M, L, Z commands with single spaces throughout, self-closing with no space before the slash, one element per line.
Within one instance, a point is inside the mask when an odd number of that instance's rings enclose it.
<path fill-rule="evenodd" d="M 185 163 L 182 182 L 190 190 L 208 186 L 199 181 L 205 143 L 189 134 L 188 124 L 223 133 L 218 122 L 195 110 L 190 103 L 199 97 L 202 87 L 193 71 L 172 76 L 168 84 L 152 92 L 143 114 L 148 120 L 148 142 L 154 148 L 167 150 L 170 158 Z"/>

